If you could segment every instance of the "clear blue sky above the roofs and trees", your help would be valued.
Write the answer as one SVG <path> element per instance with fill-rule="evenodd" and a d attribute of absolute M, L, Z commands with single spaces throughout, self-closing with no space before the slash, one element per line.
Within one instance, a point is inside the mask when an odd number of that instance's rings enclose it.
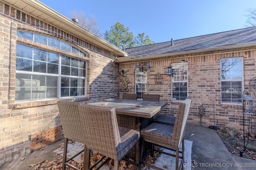
<path fill-rule="evenodd" d="M 155 43 L 244 28 L 246 9 L 256 8 L 256 0 L 39 1 L 67 18 L 71 11 L 94 16 L 102 33 L 120 22 Z"/>

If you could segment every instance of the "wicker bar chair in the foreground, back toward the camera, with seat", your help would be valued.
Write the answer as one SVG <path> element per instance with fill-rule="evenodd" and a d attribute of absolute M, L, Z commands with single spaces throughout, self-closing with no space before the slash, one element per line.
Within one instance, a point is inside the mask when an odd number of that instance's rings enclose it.
<path fill-rule="evenodd" d="M 140 132 L 118 127 L 114 107 L 79 105 L 80 118 L 86 137 L 86 147 L 114 160 L 114 170 L 118 170 L 120 160 L 136 146 L 136 162 L 139 162 Z"/>

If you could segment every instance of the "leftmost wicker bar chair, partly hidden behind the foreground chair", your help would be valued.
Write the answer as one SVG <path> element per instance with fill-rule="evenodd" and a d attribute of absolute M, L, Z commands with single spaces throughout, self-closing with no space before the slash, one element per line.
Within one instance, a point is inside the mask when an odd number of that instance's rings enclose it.
<path fill-rule="evenodd" d="M 60 112 L 60 120 L 62 123 L 62 129 L 64 133 L 64 151 L 63 151 L 63 162 L 62 162 L 62 170 L 66 169 L 66 166 L 73 168 L 75 170 L 80 170 L 73 166 L 72 164 L 69 164 L 68 161 L 72 160 L 74 157 L 76 157 L 78 154 L 84 153 L 84 164 L 89 164 L 90 161 L 90 155 L 86 155 L 86 152 L 90 153 L 90 150 L 86 148 L 86 145 L 84 145 L 84 150 L 73 156 L 72 158 L 69 158 L 67 160 L 67 147 L 68 147 L 68 139 L 71 139 L 73 141 L 77 141 L 80 143 L 85 144 L 85 138 L 84 138 L 84 130 L 82 129 L 82 122 L 80 121 L 79 117 L 79 110 L 78 106 L 81 104 L 81 102 L 70 102 L 66 100 L 60 100 L 58 101 L 58 108 Z M 85 168 L 84 168 L 85 169 Z"/>

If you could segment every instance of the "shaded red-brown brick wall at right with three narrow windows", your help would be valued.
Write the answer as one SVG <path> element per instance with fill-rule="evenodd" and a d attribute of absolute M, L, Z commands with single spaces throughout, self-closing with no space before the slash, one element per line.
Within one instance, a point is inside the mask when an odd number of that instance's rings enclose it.
<path fill-rule="evenodd" d="M 150 61 L 151 68 L 147 69 L 147 93 L 160 94 L 161 101 L 167 101 L 168 105 L 160 112 L 175 115 L 178 102 L 171 101 L 171 77 L 167 75 L 167 66 L 171 63 L 188 61 L 188 95 L 192 98 L 188 123 L 200 125 L 199 107 L 205 107 L 205 115 L 202 116 L 202 125 L 217 125 L 221 128 L 231 128 L 236 131 L 243 130 L 243 114 L 241 104 L 221 104 L 220 98 L 220 59 L 228 57 L 243 57 L 244 64 L 244 90 L 249 91 L 249 81 L 256 76 L 256 50 L 238 51 L 232 53 L 216 53 L 212 55 L 196 55 L 190 57 L 172 57 L 170 59 L 159 59 Z M 147 63 L 148 61 L 145 61 Z M 120 76 L 120 96 L 123 92 L 134 93 L 134 69 L 137 63 L 120 64 L 120 70 L 126 74 Z M 163 84 L 155 84 L 154 75 L 162 73 Z M 128 89 L 122 90 L 122 82 L 128 78 Z M 215 100 L 214 100 L 215 98 Z M 255 117 L 255 116 L 254 116 Z M 245 124 L 248 124 L 248 115 L 245 115 Z M 256 131 L 255 120 L 252 120 L 254 131 Z M 245 128 L 248 128 L 246 126 Z"/>

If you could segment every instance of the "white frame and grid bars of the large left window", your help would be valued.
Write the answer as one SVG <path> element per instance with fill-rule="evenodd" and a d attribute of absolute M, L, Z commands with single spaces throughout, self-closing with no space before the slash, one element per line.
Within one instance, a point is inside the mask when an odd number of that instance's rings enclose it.
<path fill-rule="evenodd" d="M 20 33 L 23 33 L 23 35 L 25 35 L 25 37 L 26 37 L 26 33 L 28 33 L 28 32 L 23 32 L 23 31 L 19 31 Z M 28 37 L 30 37 L 30 39 L 31 39 L 31 41 L 34 41 L 34 35 L 36 35 L 36 34 L 34 34 L 34 33 L 28 33 Z M 46 37 L 46 40 L 47 40 L 47 43 L 48 43 L 48 38 L 50 38 L 50 39 L 52 39 L 52 37 L 47 37 L 47 36 L 45 36 L 45 35 L 41 35 L 41 36 L 44 36 L 44 37 Z M 32 37 L 32 38 L 31 38 Z M 23 37 L 24 38 L 24 37 Z M 29 40 L 30 40 L 29 39 Z M 59 41 L 59 40 L 57 40 L 56 42 L 62 42 L 62 41 Z M 63 42 L 62 42 L 63 43 Z M 61 44 L 62 43 L 60 43 L 60 47 L 61 47 Z M 17 44 L 20 44 L 20 45 L 24 45 L 24 44 L 22 44 L 22 43 L 17 43 Z M 68 45 L 67 43 L 65 43 L 66 45 Z M 48 62 L 48 61 L 37 61 L 37 60 L 34 60 L 34 50 L 36 49 L 36 50 L 38 50 L 39 48 L 36 48 L 36 47 L 30 47 L 29 45 L 24 45 L 24 46 L 26 46 L 26 47 L 28 47 L 28 48 L 32 48 L 32 57 L 31 58 L 26 58 L 26 57 L 22 57 L 22 56 L 17 56 L 17 58 L 20 58 L 21 60 L 22 59 L 28 59 L 28 60 L 30 60 L 30 61 L 32 61 L 32 67 L 34 66 L 34 62 L 42 62 L 42 63 L 50 63 L 50 62 Z M 86 56 L 86 54 L 85 53 L 83 53 L 82 51 L 80 51 L 79 49 L 77 49 L 76 47 L 73 47 L 72 45 L 70 45 L 70 49 L 71 49 L 71 51 L 70 51 L 70 53 L 72 53 L 72 51 L 73 51 L 73 49 L 75 49 L 75 54 L 77 54 L 77 55 L 82 55 L 82 57 L 84 57 L 84 56 Z M 39 50 L 41 50 L 41 49 L 39 49 Z M 46 51 L 46 50 L 42 50 L 42 51 Z M 71 68 L 73 68 L 74 70 L 76 69 L 76 70 L 78 70 L 78 74 L 80 74 L 80 71 L 82 70 L 82 74 L 83 74 L 83 76 L 80 76 L 80 75 L 75 75 L 75 76 L 72 76 L 71 74 L 70 75 L 62 75 L 61 74 L 61 68 L 62 68 L 62 57 L 61 56 L 64 56 L 64 55 L 61 55 L 60 53 L 58 53 L 58 52 L 48 52 L 47 51 L 47 54 L 48 53 L 55 53 L 56 54 L 56 56 L 58 56 L 58 64 L 56 64 L 56 65 L 58 65 L 58 73 L 54 73 L 54 74 L 51 74 L 51 73 L 45 73 L 45 72 L 34 72 L 33 71 L 33 69 L 32 69 L 32 71 L 30 71 L 30 70 L 16 70 L 16 73 L 17 74 L 21 74 L 21 76 L 23 76 L 24 75 L 24 77 L 28 77 L 28 79 L 27 79 L 27 82 L 28 82 L 28 85 L 26 86 L 26 90 L 28 91 L 28 92 L 30 92 L 31 94 L 30 94 L 30 99 L 28 99 L 29 97 L 29 94 L 28 94 L 28 96 L 27 96 L 27 98 L 26 99 L 22 99 L 22 100 L 16 100 L 16 102 L 27 102 L 27 101 L 38 101 L 38 100 L 49 100 L 49 99 L 63 99 L 63 98 L 79 98 L 79 97 L 85 97 L 86 96 L 86 82 L 87 82 L 87 80 L 86 80 L 86 76 L 87 76 L 87 62 L 86 61 L 84 61 L 84 60 L 81 60 L 81 59 L 74 59 L 74 58 L 72 58 L 72 57 L 69 57 L 69 56 L 66 56 L 65 55 L 65 57 L 68 57 L 68 58 L 70 58 L 70 59 L 73 59 L 74 61 L 78 61 L 78 63 L 80 64 L 80 62 L 82 62 L 83 63 L 83 66 L 84 66 L 84 68 L 77 68 L 76 66 L 72 66 L 72 64 L 70 63 L 70 70 L 72 70 Z M 17 61 L 16 61 L 17 62 Z M 71 62 L 71 61 L 70 61 Z M 53 63 L 50 63 L 50 64 L 53 64 Z M 79 65 L 78 64 L 78 65 Z M 46 68 L 47 69 L 47 68 Z M 23 75 L 22 75 L 23 74 Z M 33 79 L 32 79 L 32 76 L 46 76 L 46 79 L 47 79 L 47 76 L 50 76 L 50 77 L 56 77 L 57 78 L 57 82 L 56 82 L 56 87 L 50 87 L 50 88 L 56 88 L 56 97 L 52 97 L 51 96 L 51 98 L 46 98 L 46 96 L 47 96 L 47 87 L 46 86 L 39 86 L 39 87 L 36 87 L 36 88 L 34 88 L 33 87 L 33 85 L 32 85 L 32 82 L 31 82 L 31 80 L 32 81 L 34 81 Z M 30 79 L 31 78 L 31 79 Z M 71 89 L 71 88 L 73 88 L 73 89 L 75 89 L 75 88 L 77 88 L 77 89 L 80 89 L 80 91 L 82 91 L 83 92 L 83 94 L 82 95 L 79 95 L 79 93 L 78 94 L 76 94 L 75 96 L 73 96 L 73 95 L 71 95 L 70 94 L 70 90 L 69 90 L 69 94 L 67 95 L 67 96 L 65 96 L 65 97 L 62 97 L 61 96 L 61 78 L 75 78 L 75 79 L 79 79 L 79 80 L 82 80 L 82 85 L 83 86 L 77 86 L 77 87 L 70 87 L 71 86 L 71 83 L 69 84 L 69 89 Z M 22 78 L 21 78 L 22 79 Z M 44 80 L 44 79 L 43 79 Z M 31 83 L 31 86 L 29 85 Z M 47 83 L 47 82 L 46 82 Z M 73 83 L 74 84 L 74 83 Z M 80 84 L 81 85 L 81 84 Z M 20 88 L 20 90 L 22 89 L 21 87 L 22 86 L 16 86 L 16 89 L 17 89 L 17 87 L 18 88 Z M 29 88 L 30 88 L 30 90 L 29 90 Z M 24 88 L 23 88 L 24 89 Z M 34 91 L 33 91 L 33 89 L 35 89 Z M 38 90 L 38 89 L 41 89 L 41 90 Z M 82 89 L 82 90 L 81 90 Z M 39 91 L 40 92 L 42 92 L 42 93 L 40 93 L 41 94 L 41 96 L 40 97 L 33 97 L 33 96 L 36 96 L 36 95 L 38 95 L 38 93 L 39 93 Z M 78 90 L 79 91 L 79 90 Z M 15 90 L 15 92 L 16 92 L 16 94 L 17 94 L 17 91 Z M 22 95 L 25 95 L 25 93 L 26 92 L 21 92 L 20 94 Z M 36 95 L 34 95 L 33 93 L 37 93 Z M 54 93 L 55 93 L 55 91 L 54 91 Z M 74 94 L 74 93 L 73 93 Z M 45 97 L 43 97 L 43 96 L 45 96 Z M 55 95 L 54 95 L 55 96 Z M 16 96 L 17 97 L 17 96 Z"/>

